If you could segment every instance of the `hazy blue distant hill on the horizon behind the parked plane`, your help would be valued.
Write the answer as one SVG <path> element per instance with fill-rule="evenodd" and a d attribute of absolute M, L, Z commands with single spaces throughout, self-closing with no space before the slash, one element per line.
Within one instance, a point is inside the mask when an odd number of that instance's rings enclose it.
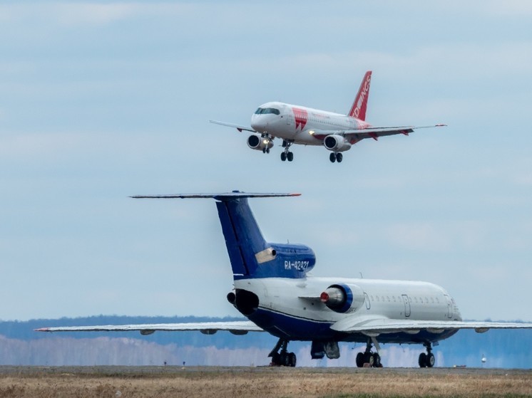
<path fill-rule="evenodd" d="M 0 365 L 267 365 L 277 339 L 267 333 L 235 336 L 229 332 L 34 332 L 36 328 L 73 325 L 180 323 L 240 318 L 125 317 L 0 321 Z M 290 342 L 301 366 L 354 366 L 364 345 L 342 343 L 339 360 L 311 360 L 310 343 Z M 416 367 L 421 345 L 382 345 L 385 366 Z M 436 365 L 451 367 L 532 368 L 532 330 L 461 330 L 434 347 Z M 486 363 L 481 363 L 485 356 Z"/>

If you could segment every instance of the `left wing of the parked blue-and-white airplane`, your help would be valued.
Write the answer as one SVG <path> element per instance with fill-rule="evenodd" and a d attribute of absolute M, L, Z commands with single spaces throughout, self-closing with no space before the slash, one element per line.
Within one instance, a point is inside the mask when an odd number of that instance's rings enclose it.
<path fill-rule="evenodd" d="M 39 328 L 36 332 L 128 332 L 138 330 L 141 335 L 151 335 L 163 330 L 166 332 L 185 332 L 199 330 L 205 335 L 213 335 L 218 330 L 227 330 L 234 335 L 245 335 L 247 332 L 264 332 L 255 323 L 247 320 L 232 322 L 199 322 L 199 323 L 153 323 L 141 325 L 98 325 L 98 326 L 59 326 Z"/>

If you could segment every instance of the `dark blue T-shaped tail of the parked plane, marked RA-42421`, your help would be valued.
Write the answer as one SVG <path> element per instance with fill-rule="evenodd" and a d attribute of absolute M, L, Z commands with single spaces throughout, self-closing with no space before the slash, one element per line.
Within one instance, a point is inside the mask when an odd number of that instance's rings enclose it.
<path fill-rule="evenodd" d="M 190 199 L 213 198 L 222 224 L 225 246 L 231 262 L 233 278 L 305 278 L 316 263 L 308 246 L 268 243 L 262 236 L 247 198 L 294 197 L 299 194 L 254 194 L 229 192 L 222 194 L 138 195 L 133 198 Z"/>

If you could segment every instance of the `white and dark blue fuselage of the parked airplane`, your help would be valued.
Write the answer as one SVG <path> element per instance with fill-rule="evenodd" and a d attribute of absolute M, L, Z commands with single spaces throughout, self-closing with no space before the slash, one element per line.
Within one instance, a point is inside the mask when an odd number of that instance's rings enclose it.
<path fill-rule="evenodd" d="M 319 300 L 327 287 L 349 286 L 352 305 L 338 312 Z M 247 317 L 260 328 L 290 340 L 367 342 L 362 333 L 337 332 L 331 326 L 349 315 L 362 323 L 374 318 L 389 320 L 461 320 L 454 299 L 440 286 L 418 281 L 317 278 L 253 278 L 235 281 L 235 289 L 255 293 L 256 310 Z M 438 341 L 454 335 L 451 330 L 387 333 L 379 342 Z"/>

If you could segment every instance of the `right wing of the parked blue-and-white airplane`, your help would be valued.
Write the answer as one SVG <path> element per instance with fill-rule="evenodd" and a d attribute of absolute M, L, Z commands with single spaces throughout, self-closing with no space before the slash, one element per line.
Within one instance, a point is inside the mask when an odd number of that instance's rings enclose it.
<path fill-rule="evenodd" d="M 388 318 L 348 317 L 331 325 L 332 330 L 347 333 L 364 333 L 377 336 L 386 333 L 407 332 L 416 334 L 420 330 L 441 332 L 443 330 L 474 329 L 476 332 L 487 332 L 489 329 L 532 329 L 532 323 L 520 322 L 487 322 L 467 320 L 392 320 Z"/>

